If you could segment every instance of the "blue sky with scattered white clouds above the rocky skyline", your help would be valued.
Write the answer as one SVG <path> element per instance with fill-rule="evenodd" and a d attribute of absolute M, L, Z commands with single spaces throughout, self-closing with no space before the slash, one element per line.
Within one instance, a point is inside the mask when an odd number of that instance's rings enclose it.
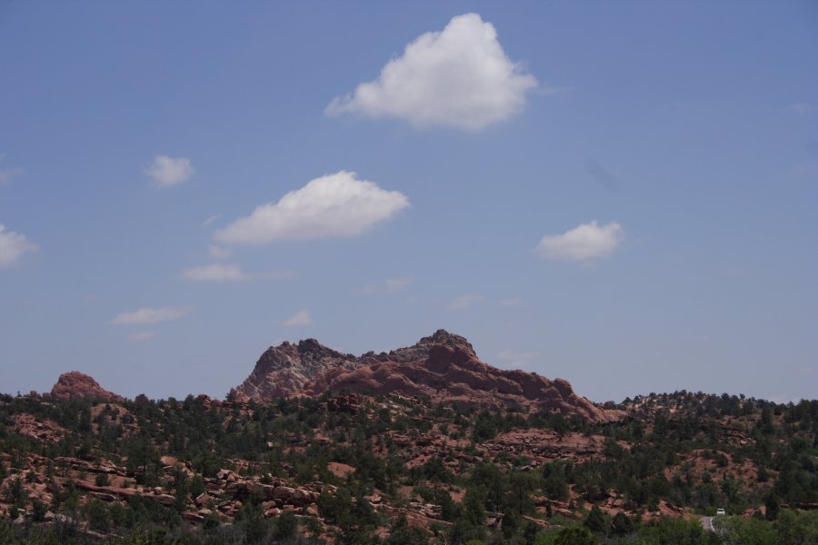
<path fill-rule="evenodd" d="M 444 328 L 595 401 L 814 398 L 816 31 L 810 2 L 0 2 L 0 391 L 222 397 L 274 343 Z"/>

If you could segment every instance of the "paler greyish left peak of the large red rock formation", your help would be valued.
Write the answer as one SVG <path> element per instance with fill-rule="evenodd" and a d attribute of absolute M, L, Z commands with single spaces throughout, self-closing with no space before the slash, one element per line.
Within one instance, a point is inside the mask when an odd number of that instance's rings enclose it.
<path fill-rule="evenodd" d="M 283 342 L 264 352 L 250 376 L 234 389 L 237 401 L 270 401 L 301 392 L 304 385 L 332 369 L 354 369 L 358 359 L 326 348 L 314 339 Z"/>

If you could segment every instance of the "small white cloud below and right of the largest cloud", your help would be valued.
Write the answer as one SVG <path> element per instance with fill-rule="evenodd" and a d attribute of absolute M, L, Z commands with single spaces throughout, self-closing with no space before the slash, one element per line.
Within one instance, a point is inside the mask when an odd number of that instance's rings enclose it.
<path fill-rule="evenodd" d="M 546 234 L 536 252 L 549 259 L 584 261 L 611 255 L 624 240 L 622 225 L 582 223 L 562 234 Z"/>

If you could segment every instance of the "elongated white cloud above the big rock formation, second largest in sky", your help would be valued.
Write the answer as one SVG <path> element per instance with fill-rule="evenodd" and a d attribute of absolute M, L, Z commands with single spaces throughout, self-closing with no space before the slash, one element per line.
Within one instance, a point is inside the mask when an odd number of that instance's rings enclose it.
<path fill-rule="evenodd" d="M 217 231 L 221 243 L 263 244 L 283 240 L 349 237 L 364 233 L 409 206 L 406 195 L 341 171 L 315 178 L 278 203 L 258 206 L 249 216 Z"/>

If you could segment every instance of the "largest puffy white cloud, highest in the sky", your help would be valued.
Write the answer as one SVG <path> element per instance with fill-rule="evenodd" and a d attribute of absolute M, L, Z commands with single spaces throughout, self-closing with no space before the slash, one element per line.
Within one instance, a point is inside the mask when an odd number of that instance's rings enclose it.
<path fill-rule="evenodd" d="M 474 130 L 516 114 L 536 86 L 536 78 L 505 55 L 494 25 L 466 14 L 406 45 L 378 79 L 336 97 L 326 112 Z"/>

